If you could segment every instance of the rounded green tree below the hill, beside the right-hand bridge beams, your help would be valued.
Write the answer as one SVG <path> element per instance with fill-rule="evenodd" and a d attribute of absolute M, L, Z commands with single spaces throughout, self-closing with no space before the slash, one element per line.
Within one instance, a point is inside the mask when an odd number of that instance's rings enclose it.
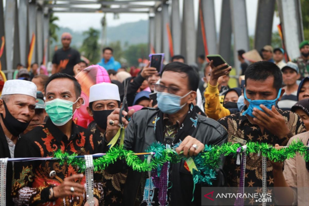
<path fill-rule="evenodd" d="M 129 65 L 138 66 L 138 58 L 148 58 L 148 44 L 130 45 L 124 52 Z"/>

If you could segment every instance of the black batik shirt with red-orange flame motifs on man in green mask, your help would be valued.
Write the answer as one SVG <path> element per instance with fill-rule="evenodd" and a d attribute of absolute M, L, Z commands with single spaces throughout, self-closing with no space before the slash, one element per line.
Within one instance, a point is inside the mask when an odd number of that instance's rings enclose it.
<path fill-rule="evenodd" d="M 69 154 L 89 155 L 99 152 L 101 140 L 93 137 L 88 129 L 72 123 L 71 136 L 68 137 L 57 128 L 52 121 L 47 120 L 20 138 L 15 148 L 15 158 L 53 157 L 60 149 Z M 59 161 L 27 161 L 15 162 L 15 174 L 12 182 L 12 197 L 17 205 L 84 205 L 85 194 L 66 196 L 49 200 L 49 189 L 58 186 L 63 179 L 78 174 L 78 168 Z M 97 182 L 95 176 L 94 196 L 102 202 L 103 183 Z M 86 177 L 75 179 L 74 182 L 85 184 Z"/>

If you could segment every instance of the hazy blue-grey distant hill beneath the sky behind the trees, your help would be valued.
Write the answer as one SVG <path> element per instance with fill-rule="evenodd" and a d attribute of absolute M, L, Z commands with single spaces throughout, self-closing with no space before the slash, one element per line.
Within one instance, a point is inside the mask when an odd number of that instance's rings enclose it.
<path fill-rule="evenodd" d="M 58 45 L 60 43 L 60 36 L 63 32 L 70 32 L 72 34 L 72 46 L 79 48 L 83 44 L 83 32 L 74 32 L 70 28 L 60 27 L 57 31 L 59 36 Z M 102 32 L 102 30 L 100 30 Z M 116 27 L 107 27 L 107 42 L 120 41 L 121 45 L 140 44 L 148 42 L 148 21 L 140 20 L 138 22 L 125 23 Z M 52 45 L 54 46 L 54 45 Z"/>

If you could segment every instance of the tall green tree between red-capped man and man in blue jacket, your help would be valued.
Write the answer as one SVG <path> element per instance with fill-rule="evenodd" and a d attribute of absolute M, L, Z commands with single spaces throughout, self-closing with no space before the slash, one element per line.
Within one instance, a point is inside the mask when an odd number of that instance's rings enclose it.
<path fill-rule="evenodd" d="M 100 59 L 99 31 L 90 27 L 88 31 L 83 32 L 86 38 L 80 48 L 80 52 L 89 59 L 93 64 L 96 64 Z"/>

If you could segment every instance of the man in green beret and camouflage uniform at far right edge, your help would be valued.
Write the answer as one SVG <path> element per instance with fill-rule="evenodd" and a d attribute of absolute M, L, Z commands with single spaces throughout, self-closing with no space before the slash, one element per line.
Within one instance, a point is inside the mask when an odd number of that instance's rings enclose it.
<path fill-rule="evenodd" d="M 299 68 L 300 79 L 309 77 L 309 41 L 305 40 L 299 44 L 301 56 L 294 59 L 292 62 L 296 63 Z"/>

